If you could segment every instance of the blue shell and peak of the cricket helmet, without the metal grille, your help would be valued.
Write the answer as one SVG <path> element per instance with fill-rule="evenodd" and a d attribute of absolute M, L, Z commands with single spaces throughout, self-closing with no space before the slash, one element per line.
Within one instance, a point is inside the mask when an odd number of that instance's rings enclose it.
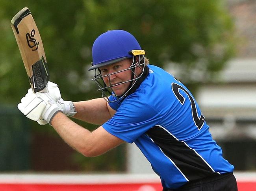
<path fill-rule="evenodd" d="M 107 31 L 98 36 L 93 44 L 93 62 L 89 70 L 132 58 L 132 50 L 141 50 L 132 34 L 122 30 Z"/>

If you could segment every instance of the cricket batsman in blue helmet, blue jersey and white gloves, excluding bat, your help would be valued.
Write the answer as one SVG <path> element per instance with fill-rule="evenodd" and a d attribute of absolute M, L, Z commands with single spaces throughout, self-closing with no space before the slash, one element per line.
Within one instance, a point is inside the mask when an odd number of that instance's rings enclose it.
<path fill-rule="evenodd" d="M 50 124 L 87 157 L 134 142 L 160 176 L 163 191 L 237 191 L 234 166 L 223 158 L 193 95 L 173 75 L 149 64 L 133 35 L 101 34 L 92 57 L 89 70 L 95 71 L 102 98 L 64 101 L 58 85 L 48 82 L 47 93 L 28 90 L 20 111 Z M 91 132 L 68 116 L 99 127 Z"/>

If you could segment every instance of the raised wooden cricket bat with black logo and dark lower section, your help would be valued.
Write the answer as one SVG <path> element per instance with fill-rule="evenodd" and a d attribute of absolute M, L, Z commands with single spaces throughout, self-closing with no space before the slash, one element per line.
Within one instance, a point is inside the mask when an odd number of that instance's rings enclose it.
<path fill-rule="evenodd" d="M 30 86 L 34 93 L 42 91 L 49 81 L 48 66 L 41 36 L 27 7 L 13 17 L 11 28 L 19 46 Z"/>

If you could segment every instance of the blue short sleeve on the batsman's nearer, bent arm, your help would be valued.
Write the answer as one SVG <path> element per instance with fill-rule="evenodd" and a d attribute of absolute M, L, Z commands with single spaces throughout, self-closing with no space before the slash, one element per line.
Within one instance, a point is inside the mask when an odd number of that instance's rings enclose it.
<path fill-rule="evenodd" d="M 115 115 L 102 126 L 112 135 L 132 143 L 159 121 L 159 113 L 148 104 L 124 100 Z"/>

